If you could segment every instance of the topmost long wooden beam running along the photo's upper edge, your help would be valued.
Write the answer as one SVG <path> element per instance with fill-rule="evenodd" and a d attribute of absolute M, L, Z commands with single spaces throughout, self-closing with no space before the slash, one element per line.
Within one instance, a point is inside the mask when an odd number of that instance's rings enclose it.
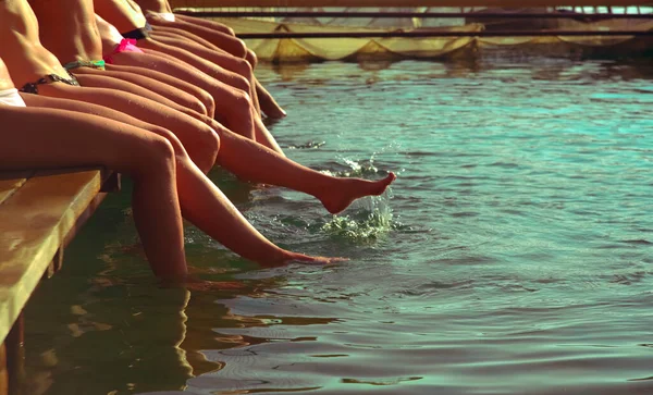
<path fill-rule="evenodd" d="M 170 0 L 175 8 L 224 7 L 588 7 L 648 5 L 651 0 Z"/>

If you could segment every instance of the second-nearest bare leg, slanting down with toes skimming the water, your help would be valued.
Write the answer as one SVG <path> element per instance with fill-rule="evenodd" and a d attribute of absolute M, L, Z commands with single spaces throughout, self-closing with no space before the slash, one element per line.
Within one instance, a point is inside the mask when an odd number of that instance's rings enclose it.
<path fill-rule="evenodd" d="M 157 138 L 156 135 L 159 135 L 168 139 L 174 150 L 178 201 L 184 218 L 239 256 L 267 266 L 280 264 L 288 260 L 316 263 L 328 263 L 333 260 L 287 251 L 268 240 L 247 222 L 222 192 L 193 163 L 182 144 L 169 131 L 100 106 L 67 99 L 29 97 L 29 95 L 24 97 L 28 106 L 60 108 L 76 112 L 91 111 L 109 120 L 143 127 L 140 131 L 151 132 L 152 138 Z M 147 132 L 143 131 L 143 133 L 147 135 Z M 255 144 L 245 138 L 243 140 Z M 138 157 L 137 152 L 131 153 Z"/>

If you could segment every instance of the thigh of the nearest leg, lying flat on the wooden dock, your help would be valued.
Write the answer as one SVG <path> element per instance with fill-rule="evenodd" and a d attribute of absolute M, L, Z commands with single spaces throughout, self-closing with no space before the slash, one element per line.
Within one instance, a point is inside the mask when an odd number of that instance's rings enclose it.
<path fill-rule="evenodd" d="M 104 165 L 132 173 L 158 136 L 120 122 L 57 109 L 0 106 L 0 166 Z"/>

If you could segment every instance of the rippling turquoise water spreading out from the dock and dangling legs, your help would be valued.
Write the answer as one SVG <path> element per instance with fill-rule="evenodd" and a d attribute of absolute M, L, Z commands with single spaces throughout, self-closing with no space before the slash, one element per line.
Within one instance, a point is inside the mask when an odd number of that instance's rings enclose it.
<path fill-rule="evenodd" d="M 398 178 L 333 217 L 212 177 L 280 245 L 352 260 L 261 270 L 188 227 L 193 271 L 239 287 L 160 288 L 112 196 L 27 311 L 29 394 L 653 393 L 652 65 L 259 75 L 291 158 Z"/>

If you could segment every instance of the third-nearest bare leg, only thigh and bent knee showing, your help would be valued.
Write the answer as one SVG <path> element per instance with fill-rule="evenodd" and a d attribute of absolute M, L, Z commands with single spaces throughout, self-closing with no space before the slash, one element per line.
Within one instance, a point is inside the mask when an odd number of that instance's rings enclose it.
<path fill-rule="evenodd" d="M 208 172 L 215 163 L 220 144 L 215 132 L 205 123 L 167 106 L 124 91 L 62 83 L 41 85 L 39 95 L 96 103 L 169 128 L 202 171 Z"/>

